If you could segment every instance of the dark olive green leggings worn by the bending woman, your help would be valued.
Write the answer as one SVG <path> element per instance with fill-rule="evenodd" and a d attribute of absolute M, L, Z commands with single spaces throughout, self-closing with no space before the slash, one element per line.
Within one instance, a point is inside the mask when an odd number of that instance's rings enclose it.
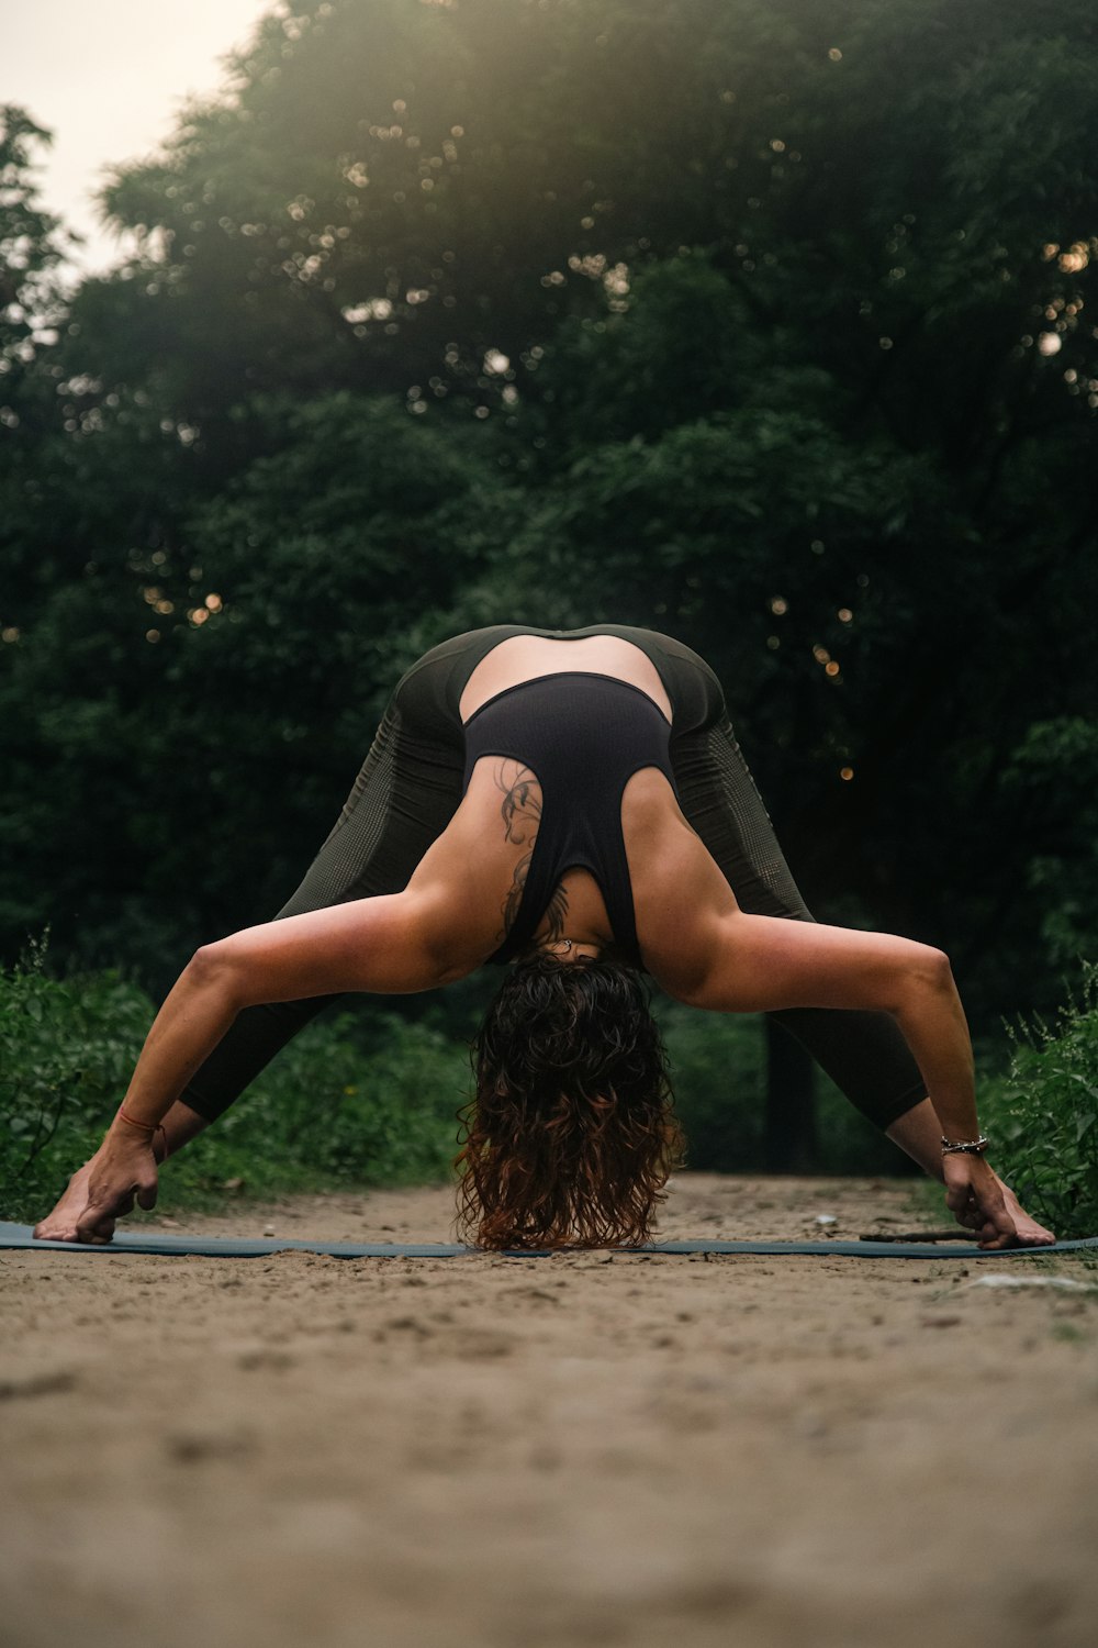
<path fill-rule="evenodd" d="M 492 625 L 426 653 L 400 679 L 354 789 L 281 916 L 351 898 L 402 892 L 461 801 L 464 743 L 458 702 L 479 661 L 517 634 L 579 639 L 614 634 L 655 664 L 672 704 L 672 765 L 683 812 L 721 867 L 742 910 L 812 921 L 733 735 L 721 686 L 690 648 L 652 630 L 596 625 L 535 630 Z M 328 1002 L 249 1007 L 181 1094 L 212 1121 Z M 899 1027 L 887 1014 L 785 1009 L 770 1015 L 886 1129 L 925 1098 Z"/>

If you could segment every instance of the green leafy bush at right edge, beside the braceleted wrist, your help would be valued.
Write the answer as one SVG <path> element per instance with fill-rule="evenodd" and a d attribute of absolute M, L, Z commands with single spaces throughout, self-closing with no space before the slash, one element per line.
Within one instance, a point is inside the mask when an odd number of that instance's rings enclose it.
<path fill-rule="evenodd" d="M 1012 1037 L 1009 1073 L 981 1093 L 994 1163 L 1058 1236 L 1098 1231 L 1098 967 L 1052 1023 Z"/>

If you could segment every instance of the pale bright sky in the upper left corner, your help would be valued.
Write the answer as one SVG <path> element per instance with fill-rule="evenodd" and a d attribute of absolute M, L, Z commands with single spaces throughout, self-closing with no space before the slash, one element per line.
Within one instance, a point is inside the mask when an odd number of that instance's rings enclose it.
<path fill-rule="evenodd" d="M 79 264 L 104 269 L 119 242 L 92 194 L 104 168 L 153 153 L 189 94 L 216 91 L 221 58 L 277 0 L 0 0 L 0 104 L 53 132 L 41 204 L 86 236 Z"/>

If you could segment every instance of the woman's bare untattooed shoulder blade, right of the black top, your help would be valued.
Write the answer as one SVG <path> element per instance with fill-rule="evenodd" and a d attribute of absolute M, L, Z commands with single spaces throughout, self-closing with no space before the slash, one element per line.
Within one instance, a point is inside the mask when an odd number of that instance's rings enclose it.
<path fill-rule="evenodd" d="M 688 1000 L 713 966 L 723 923 L 739 906 L 662 773 L 630 778 L 622 829 L 644 964 L 668 995 Z"/>

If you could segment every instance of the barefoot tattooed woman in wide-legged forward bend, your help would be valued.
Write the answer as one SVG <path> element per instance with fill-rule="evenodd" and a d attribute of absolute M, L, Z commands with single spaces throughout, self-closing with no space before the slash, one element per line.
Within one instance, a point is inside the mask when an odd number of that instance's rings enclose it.
<path fill-rule="evenodd" d="M 402 677 L 305 882 L 275 921 L 196 953 L 36 1234 L 109 1241 L 153 1205 L 156 1163 L 337 994 L 428 990 L 486 961 L 514 966 L 463 1150 L 484 1246 L 645 1236 L 677 1129 L 640 967 L 690 1005 L 774 1014 L 983 1246 L 1054 1239 L 983 1155 L 947 957 L 813 923 L 716 677 L 616 625 L 495 625 Z"/>

